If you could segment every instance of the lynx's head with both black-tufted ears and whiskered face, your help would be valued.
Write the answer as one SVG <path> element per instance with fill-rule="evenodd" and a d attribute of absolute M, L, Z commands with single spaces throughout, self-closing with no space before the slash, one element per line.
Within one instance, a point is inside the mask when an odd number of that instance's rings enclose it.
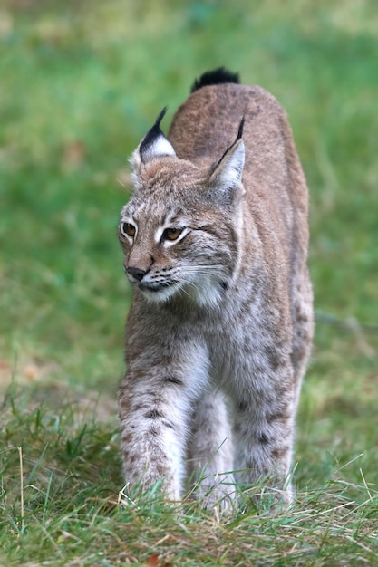
<path fill-rule="evenodd" d="M 147 300 L 218 303 L 239 256 L 244 120 L 223 156 L 199 168 L 160 130 L 165 111 L 131 159 L 134 192 L 119 226 L 125 273 Z"/>

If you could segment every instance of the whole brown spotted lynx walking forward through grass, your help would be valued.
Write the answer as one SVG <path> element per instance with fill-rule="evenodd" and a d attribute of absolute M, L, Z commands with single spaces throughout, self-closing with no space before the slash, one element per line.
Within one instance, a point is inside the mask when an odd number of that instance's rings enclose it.
<path fill-rule="evenodd" d="M 267 476 L 290 502 L 313 311 L 307 188 L 286 114 L 224 69 L 194 83 L 168 138 L 164 112 L 132 156 L 119 227 L 134 287 L 120 391 L 126 481 L 161 479 L 178 500 L 197 473 L 214 504 L 234 478 Z"/>

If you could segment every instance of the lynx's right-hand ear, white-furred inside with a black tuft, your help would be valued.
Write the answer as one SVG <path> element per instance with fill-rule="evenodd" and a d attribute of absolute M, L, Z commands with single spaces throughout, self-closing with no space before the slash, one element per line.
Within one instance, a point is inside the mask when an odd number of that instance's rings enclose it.
<path fill-rule="evenodd" d="M 211 174 L 210 185 L 216 189 L 218 195 L 231 202 L 236 189 L 240 187 L 243 177 L 245 148 L 242 139 L 244 118 L 240 121 L 237 139 L 230 146 L 215 165 Z"/>

